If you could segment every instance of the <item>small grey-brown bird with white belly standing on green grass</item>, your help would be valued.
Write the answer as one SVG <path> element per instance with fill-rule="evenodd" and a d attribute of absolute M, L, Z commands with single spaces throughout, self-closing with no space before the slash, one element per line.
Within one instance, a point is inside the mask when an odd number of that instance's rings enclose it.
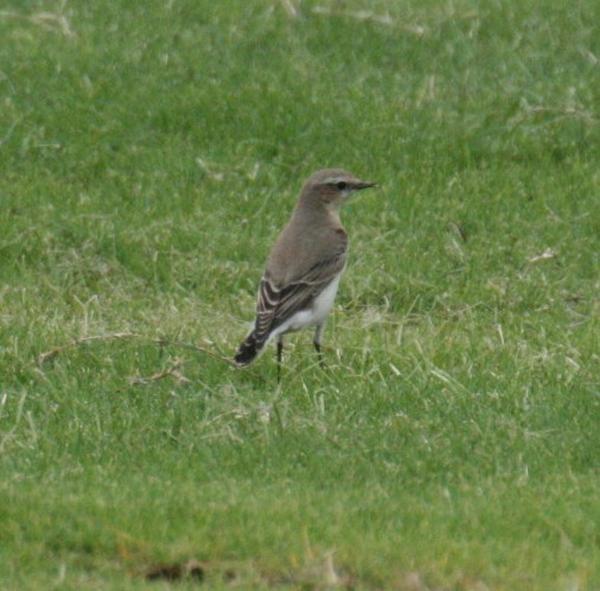
<path fill-rule="evenodd" d="M 254 326 L 234 357 L 252 363 L 272 339 L 277 342 L 277 380 L 283 337 L 314 327 L 320 365 L 321 336 L 346 268 L 348 235 L 340 208 L 357 191 L 376 186 L 341 168 L 315 172 L 304 183 L 292 216 L 275 241 L 260 280 Z"/>

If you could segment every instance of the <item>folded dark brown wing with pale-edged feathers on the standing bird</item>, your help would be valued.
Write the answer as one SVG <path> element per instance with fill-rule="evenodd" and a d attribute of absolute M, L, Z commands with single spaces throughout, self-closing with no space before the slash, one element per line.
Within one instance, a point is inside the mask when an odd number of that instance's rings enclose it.
<path fill-rule="evenodd" d="M 268 272 L 258 291 L 254 335 L 260 342 L 296 312 L 312 305 L 315 297 L 331 283 L 346 264 L 345 251 L 313 265 L 307 273 L 288 285 L 277 287 Z"/>

